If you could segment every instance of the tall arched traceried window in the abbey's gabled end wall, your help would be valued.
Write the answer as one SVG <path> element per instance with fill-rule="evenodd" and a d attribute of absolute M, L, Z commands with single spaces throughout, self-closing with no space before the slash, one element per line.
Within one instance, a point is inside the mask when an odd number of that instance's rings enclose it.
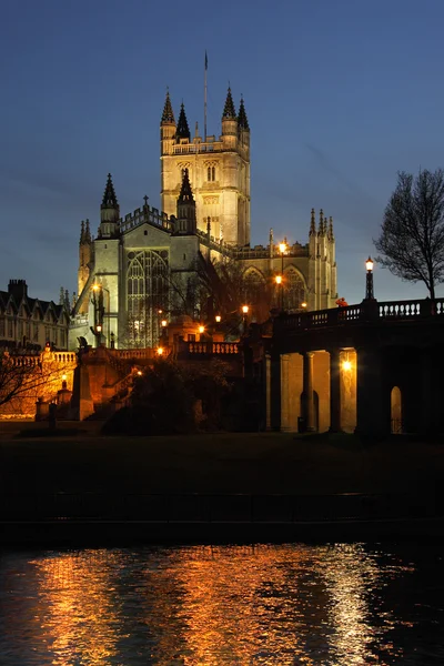
<path fill-rule="evenodd" d="M 128 253 L 128 331 L 123 345 L 155 346 L 159 342 L 159 310 L 169 310 L 167 250 Z"/>

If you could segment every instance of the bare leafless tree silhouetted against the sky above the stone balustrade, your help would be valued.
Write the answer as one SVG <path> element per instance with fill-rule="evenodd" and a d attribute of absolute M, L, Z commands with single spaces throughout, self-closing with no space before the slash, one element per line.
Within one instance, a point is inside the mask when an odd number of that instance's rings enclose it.
<path fill-rule="evenodd" d="M 434 299 L 444 282 L 444 171 L 401 171 L 381 226 L 377 262 L 406 282 L 424 282 Z"/>

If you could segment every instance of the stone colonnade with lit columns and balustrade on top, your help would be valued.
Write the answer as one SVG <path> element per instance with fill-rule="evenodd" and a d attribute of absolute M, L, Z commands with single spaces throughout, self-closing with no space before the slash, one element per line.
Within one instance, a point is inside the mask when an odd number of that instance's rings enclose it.
<path fill-rule="evenodd" d="M 444 299 L 280 314 L 265 345 L 266 427 L 444 431 Z"/>

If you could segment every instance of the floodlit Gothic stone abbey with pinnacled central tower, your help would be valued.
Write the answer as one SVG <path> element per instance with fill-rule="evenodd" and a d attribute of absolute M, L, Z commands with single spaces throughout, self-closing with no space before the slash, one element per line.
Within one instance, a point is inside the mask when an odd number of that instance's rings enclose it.
<path fill-rule="evenodd" d="M 206 123 L 203 137 L 198 127 L 192 135 L 183 103 L 174 113 L 167 93 L 160 121 L 161 210 L 145 196 L 141 208 L 121 215 L 108 175 L 97 233 L 89 220 L 81 222 L 69 349 L 79 340 L 94 345 L 98 335 L 111 347 L 153 347 L 161 322 L 170 325 L 184 315 L 203 323 L 215 315 L 223 320 L 230 313 L 219 311 L 208 286 L 220 266 L 242 284 L 251 321 L 256 321 L 255 299 L 265 292 L 272 306 L 286 312 L 335 306 L 333 221 L 322 210 L 307 215 L 307 243 L 275 239 L 271 229 L 266 245 L 251 246 L 244 100 L 236 105 L 229 89 L 221 112 L 219 135 L 206 134 Z"/>

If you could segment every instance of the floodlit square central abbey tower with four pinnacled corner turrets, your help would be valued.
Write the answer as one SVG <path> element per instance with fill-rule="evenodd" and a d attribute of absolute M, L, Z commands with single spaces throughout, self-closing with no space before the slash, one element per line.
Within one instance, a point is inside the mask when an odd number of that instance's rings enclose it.
<path fill-rule="evenodd" d="M 170 93 L 160 123 L 162 210 L 175 215 L 188 171 L 195 200 L 196 229 L 232 245 L 250 243 L 250 127 L 243 99 L 239 115 L 229 88 L 222 133 L 191 138 L 184 104 L 175 124 Z"/>

